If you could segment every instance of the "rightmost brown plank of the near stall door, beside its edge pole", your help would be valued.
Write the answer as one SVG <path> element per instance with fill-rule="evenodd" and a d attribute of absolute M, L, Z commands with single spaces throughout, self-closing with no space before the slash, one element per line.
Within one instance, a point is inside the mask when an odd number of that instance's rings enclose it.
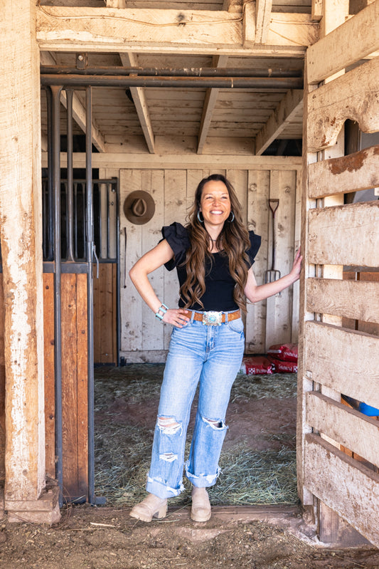
<path fill-rule="evenodd" d="M 87 275 L 77 276 L 76 286 L 77 431 L 78 431 L 78 496 L 88 493 L 88 320 Z"/>

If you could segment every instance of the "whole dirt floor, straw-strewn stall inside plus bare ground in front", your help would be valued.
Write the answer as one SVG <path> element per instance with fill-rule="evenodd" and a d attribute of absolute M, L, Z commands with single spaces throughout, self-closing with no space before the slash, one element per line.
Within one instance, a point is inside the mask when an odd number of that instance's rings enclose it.
<path fill-rule="evenodd" d="M 301 515 L 293 374 L 237 377 L 210 521 L 191 521 L 187 488 L 164 520 L 130 518 L 146 495 L 162 372 L 96 371 L 95 489 L 107 506 L 66 506 L 53 527 L 0 519 L 0 569 L 379 569 L 378 549 L 326 548 Z"/>

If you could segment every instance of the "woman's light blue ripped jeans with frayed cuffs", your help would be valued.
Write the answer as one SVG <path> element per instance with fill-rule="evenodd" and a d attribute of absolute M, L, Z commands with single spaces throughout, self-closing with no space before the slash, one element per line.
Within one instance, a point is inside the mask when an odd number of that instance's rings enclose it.
<path fill-rule="evenodd" d="M 213 486 L 225 438 L 230 390 L 245 347 L 240 318 L 219 326 L 192 319 L 173 328 L 161 385 L 146 490 L 160 498 L 183 490 L 183 461 L 191 404 L 200 381 L 198 411 L 186 476 L 193 486 Z"/>

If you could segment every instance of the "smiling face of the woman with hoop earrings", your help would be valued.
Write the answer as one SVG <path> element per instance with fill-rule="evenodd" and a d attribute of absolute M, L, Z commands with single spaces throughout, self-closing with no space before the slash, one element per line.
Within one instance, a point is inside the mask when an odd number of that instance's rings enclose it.
<path fill-rule="evenodd" d="M 222 228 L 230 214 L 230 197 L 228 188 L 220 180 L 210 180 L 203 187 L 200 200 L 200 211 L 205 226 Z"/>

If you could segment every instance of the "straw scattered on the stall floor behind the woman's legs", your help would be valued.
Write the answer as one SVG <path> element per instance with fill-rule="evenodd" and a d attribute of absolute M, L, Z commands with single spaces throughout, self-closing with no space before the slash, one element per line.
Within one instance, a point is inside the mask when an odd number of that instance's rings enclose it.
<path fill-rule="evenodd" d="M 95 492 L 108 505 L 131 506 L 146 495 L 144 485 L 149 469 L 154 427 L 127 424 L 110 412 L 114 402 L 128 400 L 158 404 L 163 375 L 162 364 L 132 364 L 95 370 Z M 238 375 L 231 402 L 262 397 L 295 397 L 294 374 Z M 100 418 L 100 419 L 99 419 Z M 188 439 L 191 432 L 188 429 Z M 210 489 L 213 504 L 251 505 L 295 503 L 297 501 L 296 453 L 289 448 L 289 434 L 272 435 L 282 442 L 278 450 L 252 451 L 244 444 L 223 451 L 222 473 Z M 294 439 L 294 437 L 292 437 Z M 293 441 L 294 442 L 294 441 Z M 189 443 L 186 454 L 188 454 Z M 190 485 L 171 503 L 186 505 Z"/>

